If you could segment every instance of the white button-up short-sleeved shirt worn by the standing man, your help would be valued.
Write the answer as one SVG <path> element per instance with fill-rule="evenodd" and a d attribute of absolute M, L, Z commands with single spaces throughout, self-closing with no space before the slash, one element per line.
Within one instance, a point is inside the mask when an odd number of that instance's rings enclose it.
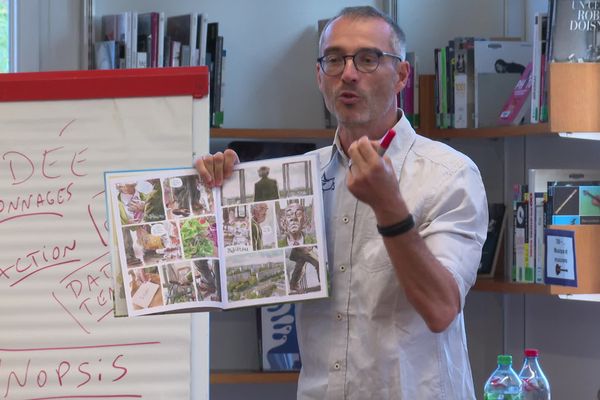
<path fill-rule="evenodd" d="M 450 271 L 461 310 L 487 234 L 479 170 L 465 155 L 419 136 L 406 117 L 386 152 L 427 247 Z M 320 153 L 331 297 L 298 306 L 299 399 L 475 399 L 462 312 L 429 330 L 406 299 L 375 216 L 346 186 L 336 135 Z M 407 266 L 408 268 L 410 266 Z"/>

